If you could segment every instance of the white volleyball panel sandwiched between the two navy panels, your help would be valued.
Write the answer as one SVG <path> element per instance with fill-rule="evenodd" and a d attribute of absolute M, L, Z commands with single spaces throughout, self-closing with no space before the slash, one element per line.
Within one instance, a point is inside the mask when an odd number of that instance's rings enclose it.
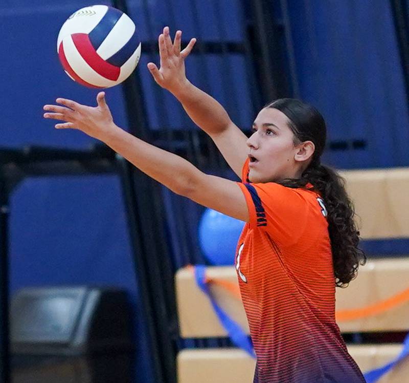
<path fill-rule="evenodd" d="M 129 41 L 133 32 L 135 32 L 135 24 L 124 13 L 99 46 L 97 53 L 101 58 L 107 60 Z"/>

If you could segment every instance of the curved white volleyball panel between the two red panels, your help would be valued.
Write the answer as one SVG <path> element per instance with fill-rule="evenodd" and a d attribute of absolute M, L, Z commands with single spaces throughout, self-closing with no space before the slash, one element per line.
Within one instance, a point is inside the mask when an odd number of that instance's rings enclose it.
<path fill-rule="evenodd" d="M 64 47 L 65 57 L 70 64 L 70 67 L 82 80 L 96 87 L 104 88 L 113 87 L 119 83 L 118 80 L 108 80 L 95 72 L 94 69 L 92 69 L 78 53 L 71 36 L 67 36 L 66 38 L 64 38 L 62 44 Z"/>

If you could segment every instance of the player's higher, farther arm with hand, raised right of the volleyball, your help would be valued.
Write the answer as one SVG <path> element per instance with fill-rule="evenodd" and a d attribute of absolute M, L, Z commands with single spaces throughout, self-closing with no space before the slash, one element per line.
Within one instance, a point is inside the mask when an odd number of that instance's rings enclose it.
<path fill-rule="evenodd" d="M 180 101 L 196 125 L 210 135 L 224 159 L 241 177 L 241 168 L 248 154 L 247 137 L 219 102 L 195 87 L 186 77 L 185 59 L 195 42 L 196 39 L 192 38 L 180 51 L 181 31 L 176 32 L 172 43 L 169 28 L 165 27 L 158 38 L 160 69 L 153 62 L 148 63 L 148 69 L 155 81 Z"/>

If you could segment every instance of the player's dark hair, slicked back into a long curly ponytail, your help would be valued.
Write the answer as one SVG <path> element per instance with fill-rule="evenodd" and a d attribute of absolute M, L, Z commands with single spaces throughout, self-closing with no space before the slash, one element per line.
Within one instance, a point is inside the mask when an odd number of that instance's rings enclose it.
<path fill-rule="evenodd" d="M 331 240 L 335 285 L 347 287 L 356 278 L 359 264 L 365 265 L 366 255 L 358 248 L 357 230 L 352 201 L 345 190 L 345 179 L 330 167 L 321 164 L 327 128 L 323 116 L 311 105 L 297 99 L 281 98 L 265 105 L 278 109 L 289 119 L 294 134 L 293 144 L 312 141 L 315 151 L 308 167 L 299 179 L 284 179 L 278 183 L 287 187 L 306 187 L 319 192 L 327 208 L 328 231 Z"/>

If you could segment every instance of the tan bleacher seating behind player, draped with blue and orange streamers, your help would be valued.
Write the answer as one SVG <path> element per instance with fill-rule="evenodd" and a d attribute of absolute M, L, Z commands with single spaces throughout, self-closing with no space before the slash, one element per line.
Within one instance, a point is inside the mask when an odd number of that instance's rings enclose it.
<path fill-rule="evenodd" d="M 359 217 L 361 237 L 390 239 L 409 237 L 409 168 L 340 172 Z M 409 254 L 409 249 L 408 249 Z M 212 279 L 237 284 L 234 267 L 209 267 Z M 359 309 L 409 288 L 409 256 L 369 260 L 360 266 L 358 278 L 346 289 L 336 288 L 336 310 Z M 176 296 L 180 336 L 185 338 L 226 336 L 207 296 L 197 287 L 192 270 L 176 273 Z M 237 297 L 218 285 L 212 293 L 220 306 L 248 333 L 243 306 Z M 342 332 L 409 330 L 409 302 L 374 316 L 338 322 Z M 400 344 L 347 345 L 360 369 L 365 372 L 394 359 Z M 230 349 L 187 349 L 178 354 L 178 383 L 249 383 L 255 360 L 244 351 Z M 409 363 L 401 363 L 379 383 L 409 381 Z"/>

